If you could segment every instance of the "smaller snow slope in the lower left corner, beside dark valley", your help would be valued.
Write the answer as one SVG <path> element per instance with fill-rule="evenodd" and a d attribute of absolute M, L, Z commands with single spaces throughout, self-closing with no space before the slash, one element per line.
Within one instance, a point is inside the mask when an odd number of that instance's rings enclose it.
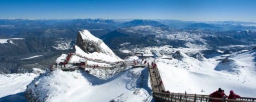
<path fill-rule="evenodd" d="M 39 73 L 44 72 L 41 69 L 33 70 L 33 73 L 0 75 L 0 102 L 4 101 L 2 98 L 8 95 L 24 92 L 26 90 L 26 86 L 34 80 L 35 77 L 39 76 Z M 24 96 L 14 95 L 16 98 L 17 96 L 24 98 Z"/>

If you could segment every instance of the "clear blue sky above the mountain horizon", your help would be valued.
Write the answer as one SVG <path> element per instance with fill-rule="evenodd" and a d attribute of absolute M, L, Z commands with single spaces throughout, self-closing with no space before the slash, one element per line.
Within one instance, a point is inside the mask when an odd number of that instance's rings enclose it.
<path fill-rule="evenodd" d="M 256 22 L 256 0 L 0 0 L 0 18 Z"/>

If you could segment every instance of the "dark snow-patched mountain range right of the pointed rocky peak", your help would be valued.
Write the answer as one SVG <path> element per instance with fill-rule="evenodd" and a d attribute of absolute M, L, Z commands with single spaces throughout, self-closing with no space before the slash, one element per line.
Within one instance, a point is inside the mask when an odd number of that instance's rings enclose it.
<path fill-rule="evenodd" d="M 168 27 L 133 26 L 114 30 L 100 38 L 110 48 L 150 47 L 172 45 L 173 47 L 207 46 L 215 48 L 224 45 L 250 45 L 256 43 L 255 31 L 215 31 L 207 29 L 171 29 Z"/>

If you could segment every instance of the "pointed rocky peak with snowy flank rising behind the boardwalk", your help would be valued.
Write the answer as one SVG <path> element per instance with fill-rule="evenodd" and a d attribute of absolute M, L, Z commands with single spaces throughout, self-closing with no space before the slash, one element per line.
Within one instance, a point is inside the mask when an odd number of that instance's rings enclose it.
<path fill-rule="evenodd" d="M 78 32 L 75 49 L 76 53 L 91 59 L 122 61 L 101 39 L 92 35 L 88 30 Z"/>

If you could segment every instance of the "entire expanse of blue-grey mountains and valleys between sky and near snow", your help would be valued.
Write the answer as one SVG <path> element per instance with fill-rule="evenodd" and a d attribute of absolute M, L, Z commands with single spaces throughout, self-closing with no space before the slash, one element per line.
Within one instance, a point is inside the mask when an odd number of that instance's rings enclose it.
<path fill-rule="evenodd" d="M 115 53 L 119 48 L 139 48 L 171 45 L 173 47 L 223 48 L 228 45 L 250 46 L 256 43 L 256 23 L 194 22 L 180 20 L 111 20 L 111 19 L 0 19 L 0 69 L 3 73 L 32 71 L 36 62 L 53 61 L 56 56 L 72 49 L 77 33 L 87 29 L 99 37 Z M 22 38 L 21 40 L 8 40 Z M 240 50 L 244 48 L 237 48 Z M 225 50 L 224 51 L 229 51 Z M 47 55 L 35 61 L 21 61 L 32 55 Z M 5 58 L 9 56 L 8 59 Z M 18 62 L 16 64 L 13 64 Z M 25 63 L 25 64 L 24 64 Z M 32 65 L 31 65 L 32 64 Z M 15 65 L 15 66 L 14 66 Z M 30 66 L 26 69 L 24 65 Z M 48 65 L 41 63 L 42 69 Z M 27 67 L 28 68 L 28 67 Z"/>

